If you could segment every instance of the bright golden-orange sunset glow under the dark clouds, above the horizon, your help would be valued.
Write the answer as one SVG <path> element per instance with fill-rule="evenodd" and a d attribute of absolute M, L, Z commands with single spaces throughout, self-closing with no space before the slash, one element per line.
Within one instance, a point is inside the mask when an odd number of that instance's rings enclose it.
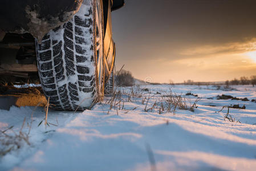
<path fill-rule="evenodd" d="M 168 59 L 168 48 L 162 56 L 153 59 L 138 58 L 136 64 L 125 60 L 126 70 L 135 78 L 144 80 L 151 77 L 153 82 L 174 83 L 193 80 L 194 82 L 225 81 L 241 76 L 256 75 L 256 39 L 245 42 L 220 44 L 218 46 L 197 46 L 176 52 L 176 59 Z M 121 67 L 121 65 L 120 65 Z M 117 64 L 117 70 L 119 66 Z"/>

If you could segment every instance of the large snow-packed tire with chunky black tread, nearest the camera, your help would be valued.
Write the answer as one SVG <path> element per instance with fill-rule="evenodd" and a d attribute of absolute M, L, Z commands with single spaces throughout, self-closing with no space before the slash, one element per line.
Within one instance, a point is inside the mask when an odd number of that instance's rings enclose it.
<path fill-rule="evenodd" d="M 95 19 L 101 14 L 99 1 L 84 0 L 70 21 L 36 43 L 40 82 L 54 109 L 88 109 L 101 96 L 102 15 L 100 22 Z"/>

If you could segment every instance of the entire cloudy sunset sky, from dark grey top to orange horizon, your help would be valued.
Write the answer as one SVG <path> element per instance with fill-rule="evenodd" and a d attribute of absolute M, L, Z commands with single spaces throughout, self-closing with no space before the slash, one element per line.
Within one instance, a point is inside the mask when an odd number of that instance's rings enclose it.
<path fill-rule="evenodd" d="M 141 80 L 256 75 L 255 0 L 126 0 L 112 12 L 116 70 Z"/>

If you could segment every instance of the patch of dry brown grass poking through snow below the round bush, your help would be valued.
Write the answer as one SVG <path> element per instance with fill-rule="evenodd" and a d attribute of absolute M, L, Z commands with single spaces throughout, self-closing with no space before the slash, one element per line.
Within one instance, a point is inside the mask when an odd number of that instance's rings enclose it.
<path fill-rule="evenodd" d="M 157 111 L 159 114 L 162 113 L 175 113 L 177 109 L 188 110 L 194 112 L 194 108 L 197 108 L 197 103 L 201 98 L 197 98 L 192 105 L 189 99 L 182 94 L 177 95 L 175 92 L 162 91 L 161 93 L 152 93 L 151 91 L 143 91 L 139 86 L 131 87 L 130 89 L 117 88 L 113 91 L 112 96 L 105 101 L 105 104 L 109 105 L 109 111 L 112 109 L 116 110 L 127 110 L 125 109 L 125 103 L 133 102 L 145 105 L 143 108 L 144 112 Z M 152 103 L 154 101 L 154 103 Z M 140 103 L 140 102 L 139 102 Z M 137 108 L 137 107 L 136 107 Z M 133 111 L 130 109 L 129 111 Z M 117 111 L 118 113 L 118 111 Z M 126 111 L 125 113 L 128 113 Z"/>

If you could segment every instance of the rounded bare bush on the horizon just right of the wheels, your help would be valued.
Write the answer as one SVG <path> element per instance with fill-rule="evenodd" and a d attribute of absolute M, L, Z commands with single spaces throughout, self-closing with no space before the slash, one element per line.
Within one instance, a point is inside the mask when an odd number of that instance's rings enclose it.
<path fill-rule="evenodd" d="M 117 86 L 133 86 L 134 79 L 132 73 L 129 71 L 121 70 L 118 75 L 116 75 L 116 85 Z"/>

